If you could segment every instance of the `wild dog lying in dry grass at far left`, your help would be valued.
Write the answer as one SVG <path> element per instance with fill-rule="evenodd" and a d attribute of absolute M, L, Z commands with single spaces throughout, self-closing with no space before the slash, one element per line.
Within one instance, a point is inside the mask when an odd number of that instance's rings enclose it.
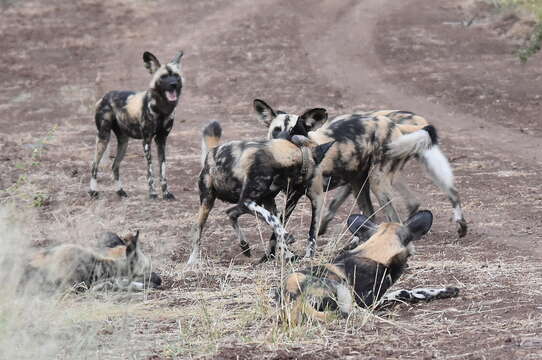
<path fill-rule="evenodd" d="M 124 238 L 117 236 L 122 245 L 103 254 L 74 244 L 45 249 L 29 261 L 22 284 L 37 284 L 46 291 L 82 291 L 94 286 L 142 290 L 144 284 L 159 285 L 160 278 L 153 279 L 151 261 L 141 251 L 138 239 L 139 231 Z"/>

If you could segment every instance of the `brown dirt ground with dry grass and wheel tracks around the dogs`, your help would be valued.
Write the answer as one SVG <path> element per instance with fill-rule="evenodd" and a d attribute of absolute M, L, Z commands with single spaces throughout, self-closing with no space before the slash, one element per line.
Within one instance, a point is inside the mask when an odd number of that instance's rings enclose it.
<path fill-rule="evenodd" d="M 99 328 L 92 358 L 542 358 L 542 54 L 521 65 L 517 38 L 502 30 L 514 24 L 484 4 L 28 0 L 0 7 L 2 201 L 38 207 L 36 245 L 93 245 L 104 230 L 141 229 L 165 279 L 144 296 L 64 300 L 67 308 L 100 309 L 85 317 Z M 121 166 L 129 197 L 114 193 L 108 157 L 100 198 L 90 200 L 97 97 L 144 89 L 142 52 L 166 61 L 178 49 L 186 83 L 168 141 L 177 200 L 147 198 L 135 140 Z M 204 233 L 205 265 L 184 271 L 201 128 L 219 120 L 224 140 L 263 138 L 254 98 L 292 112 L 394 108 L 428 118 L 454 167 L 469 233 L 457 239 L 445 196 L 409 165 L 403 176 L 436 221 L 397 287 L 453 285 L 460 296 L 284 329 L 266 301 L 281 269 L 254 267 L 254 258 L 240 255 L 223 203 Z M 332 251 L 326 244 L 340 238 L 351 207 L 319 238 L 322 253 Z M 288 224 L 297 251 L 309 213 L 303 202 Z M 242 225 L 257 258 L 269 231 L 251 217 Z"/>

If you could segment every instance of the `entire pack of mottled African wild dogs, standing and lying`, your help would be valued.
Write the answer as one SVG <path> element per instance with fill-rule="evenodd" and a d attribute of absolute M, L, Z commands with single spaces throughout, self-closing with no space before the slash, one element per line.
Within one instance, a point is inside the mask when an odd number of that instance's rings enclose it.
<path fill-rule="evenodd" d="M 163 199 L 174 199 L 166 179 L 166 141 L 172 130 L 175 109 L 183 84 L 183 53 L 161 64 L 149 52 L 143 54 L 151 74 L 144 91 L 111 91 L 96 103 L 96 151 L 92 162 L 89 194 L 99 196 L 97 175 L 111 132 L 117 138 L 112 165 L 116 193 L 128 196 L 120 179 L 120 163 L 130 138 L 141 139 L 146 159 L 148 194 L 158 196 L 151 157 L 156 143 L 160 190 Z M 437 131 L 425 118 L 409 111 L 377 110 L 329 118 L 324 108 L 301 115 L 275 110 L 263 100 L 254 100 L 254 111 L 268 128 L 267 139 L 220 143 L 221 125 L 213 121 L 202 132 L 201 172 L 198 178 L 199 209 L 192 231 L 192 251 L 187 265 L 200 261 L 201 237 L 216 199 L 233 204 L 226 210 L 242 253 L 251 247 L 239 226 L 239 217 L 252 214 L 267 223 L 273 234 L 265 255 L 257 262 L 275 258 L 294 262 L 316 253 L 316 239 L 324 234 L 337 210 L 353 195 L 360 214 L 347 219 L 351 241 L 329 262 L 289 274 L 272 289 L 279 304 L 288 304 L 291 319 L 326 319 L 329 314 L 347 316 L 353 304 L 383 306 L 394 302 L 428 301 L 456 296 L 454 287 L 388 289 L 407 266 L 413 243 L 431 228 L 433 215 L 419 210 L 420 203 L 401 179 L 410 160 L 418 160 L 434 184 L 448 197 L 459 237 L 467 233 L 461 201 L 454 185 L 452 168 L 439 147 Z M 324 204 L 324 193 L 337 189 Z M 408 216 L 402 220 L 392 191 L 404 199 Z M 286 206 L 279 213 L 275 198 L 282 192 Z M 371 193 L 387 222 L 371 219 L 375 207 Z M 295 241 L 284 225 L 300 198 L 311 204 L 311 220 L 303 254 L 288 246 Z M 43 288 L 90 288 L 142 290 L 160 287 L 161 278 L 139 246 L 139 232 L 118 236 L 107 233 L 100 249 L 60 245 L 36 254 L 24 279 L 38 280 Z"/>

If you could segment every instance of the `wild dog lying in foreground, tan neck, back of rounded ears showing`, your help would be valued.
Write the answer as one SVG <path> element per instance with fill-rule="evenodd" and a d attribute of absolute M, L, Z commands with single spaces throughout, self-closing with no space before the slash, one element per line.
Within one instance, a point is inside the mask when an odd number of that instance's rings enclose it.
<path fill-rule="evenodd" d="M 413 251 L 412 241 L 420 239 L 431 228 L 433 215 L 419 211 L 404 225 L 376 225 L 364 215 L 352 215 L 349 229 L 355 235 L 354 247 L 344 250 L 331 263 L 296 271 L 286 278 L 278 300 L 291 304 L 289 319 L 301 321 L 303 315 L 325 320 L 329 312 L 348 316 L 355 303 L 362 307 L 390 302 L 417 302 L 457 296 L 459 289 L 418 288 L 386 294 L 399 279 Z"/>

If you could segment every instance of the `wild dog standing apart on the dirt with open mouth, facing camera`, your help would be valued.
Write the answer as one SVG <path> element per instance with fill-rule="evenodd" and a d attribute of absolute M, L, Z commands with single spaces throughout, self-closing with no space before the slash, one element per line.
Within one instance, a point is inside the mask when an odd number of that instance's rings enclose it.
<path fill-rule="evenodd" d="M 120 181 L 119 167 L 126 149 L 128 139 L 143 139 L 143 152 L 147 160 L 147 182 L 149 197 L 156 198 L 154 175 L 151 160 L 151 142 L 154 138 L 158 150 L 160 164 L 160 185 L 164 199 L 174 199 L 168 191 L 166 180 L 166 140 L 175 115 L 175 107 L 179 101 L 183 78 L 181 74 L 181 58 L 183 52 L 175 55 L 171 62 L 161 65 L 156 56 L 150 52 L 143 53 L 145 67 L 152 74 L 149 88 L 145 91 L 111 91 L 105 94 L 96 104 L 96 153 L 92 162 L 90 178 L 91 197 L 97 197 L 96 178 L 100 160 L 107 149 L 111 131 L 117 137 L 117 155 L 113 162 L 113 177 L 117 194 L 127 196 Z"/>

